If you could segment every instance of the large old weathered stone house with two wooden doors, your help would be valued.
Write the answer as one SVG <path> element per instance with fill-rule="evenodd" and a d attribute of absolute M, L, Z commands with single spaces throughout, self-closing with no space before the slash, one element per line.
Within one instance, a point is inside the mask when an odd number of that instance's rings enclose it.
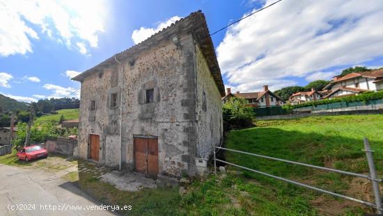
<path fill-rule="evenodd" d="M 194 176 L 221 144 L 225 88 L 201 11 L 72 79 L 81 82 L 79 158 Z"/>

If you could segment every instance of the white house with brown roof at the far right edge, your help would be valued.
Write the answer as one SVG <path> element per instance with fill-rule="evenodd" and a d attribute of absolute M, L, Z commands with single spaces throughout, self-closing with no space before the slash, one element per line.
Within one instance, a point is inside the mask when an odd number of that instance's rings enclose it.
<path fill-rule="evenodd" d="M 341 77 L 335 76 L 334 81 L 329 83 L 324 90 L 331 90 L 331 93 L 324 97 L 325 99 L 383 90 L 383 69 L 351 73 Z"/>

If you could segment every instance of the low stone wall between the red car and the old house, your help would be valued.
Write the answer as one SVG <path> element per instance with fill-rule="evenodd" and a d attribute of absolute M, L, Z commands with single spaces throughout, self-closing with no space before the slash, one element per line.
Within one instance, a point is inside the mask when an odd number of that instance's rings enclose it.
<path fill-rule="evenodd" d="M 48 152 L 60 153 L 65 156 L 72 156 L 75 147 L 77 147 L 77 140 L 67 138 L 47 140 L 44 145 Z"/>

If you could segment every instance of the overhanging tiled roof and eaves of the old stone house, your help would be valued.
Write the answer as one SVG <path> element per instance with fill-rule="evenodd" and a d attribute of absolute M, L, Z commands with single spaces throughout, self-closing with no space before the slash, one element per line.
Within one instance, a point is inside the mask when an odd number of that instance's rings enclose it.
<path fill-rule="evenodd" d="M 205 15 L 201 12 L 201 10 L 191 13 L 189 16 L 171 24 L 171 26 L 163 28 L 162 31 L 155 33 L 148 39 L 143 40 L 143 42 L 140 42 L 139 44 L 136 44 L 133 47 L 126 49 L 125 51 L 111 56 L 111 58 L 104 60 L 102 63 L 96 65 L 95 67 L 92 67 L 91 69 L 86 70 L 78 76 L 75 76 L 72 78 L 72 80 L 82 81 L 86 76 L 88 76 L 88 74 L 91 74 L 91 72 L 96 71 L 99 68 L 114 64 L 115 59 L 129 58 L 129 56 L 132 56 L 132 53 L 147 49 L 147 47 L 150 47 L 150 45 L 155 44 L 155 40 L 161 40 L 164 38 L 164 36 L 166 36 L 166 34 L 171 33 L 172 31 L 176 32 L 180 29 L 185 29 L 187 32 L 190 32 L 194 35 L 196 42 L 198 42 L 199 46 L 201 47 L 201 51 L 205 56 L 206 61 L 208 62 L 210 72 L 212 73 L 214 82 L 216 83 L 219 92 L 221 93 L 221 97 L 224 97 L 225 85 L 224 81 L 222 80 L 221 69 L 219 69 L 217 56 L 214 51 L 212 38 L 210 38 L 209 28 L 208 24 L 206 24 Z"/>

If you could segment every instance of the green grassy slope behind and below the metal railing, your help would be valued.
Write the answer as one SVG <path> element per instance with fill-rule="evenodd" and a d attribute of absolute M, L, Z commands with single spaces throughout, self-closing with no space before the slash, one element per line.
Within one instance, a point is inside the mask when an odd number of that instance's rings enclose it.
<path fill-rule="evenodd" d="M 307 117 L 259 121 L 257 124 L 258 128 L 232 131 L 226 140 L 226 147 L 366 174 L 368 166 L 365 153 L 361 151 L 364 149 L 362 139 L 366 137 L 370 140 L 371 148 L 375 150 L 374 159 L 378 174 L 383 174 L 383 115 Z M 371 185 L 364 178 L 321 172 L 239 153 L 226 152 L 225 156 L 226 160 L 232 163 L 373 201 Z M 299 213 L 299 209 L 311 210 L 304 215 L 358 215 L 361 210 L 368 210 L 351 201 L 334 199 L 251 172 L 244 172 L 244 176 L 253 179 L 261 188 L 272 188 L 272 192 L 264 197 L 255 194 L 258 199 L 263 199 L 254 203 L 255 209 L 264 215 L 274 215 L 279 210 L 294 215 Z M 278 201 L 279 197 L 298 200 L 298 204 L 303 206 L 291 206 L 290 201 Z"/>

